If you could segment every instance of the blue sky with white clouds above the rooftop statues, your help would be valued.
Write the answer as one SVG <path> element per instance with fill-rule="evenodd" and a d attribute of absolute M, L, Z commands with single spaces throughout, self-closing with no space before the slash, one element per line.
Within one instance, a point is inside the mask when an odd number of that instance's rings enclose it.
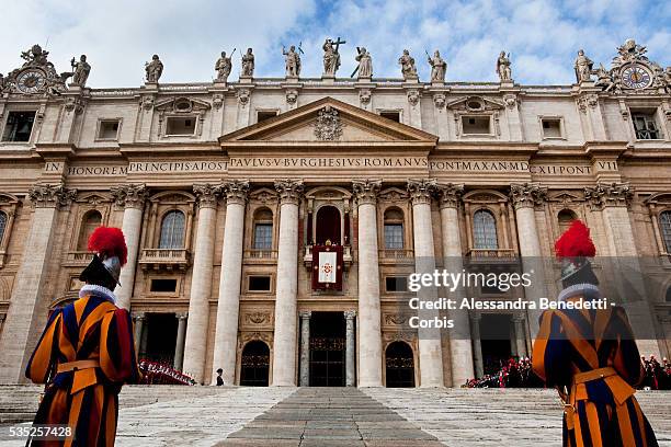
<path fill-rule="evenodd" d="M 493 81 L 497 54 L 511 53 L 513 78 L 524 84 L 571 83 L 576 51 L 584 48 L 610 67 L 616 47 L 634 37 L 651 60 L 671 65 L 668 1 L 553 0 L 3 0 L 0 72 L 22 62 L 20 53 L 44 46 L 59 71 L 82 53 L 92 65 L 89 84 L 135 87 L 144 64 L 158 53 L 163 82 L 211 81 L 214 61 L 253 47 L 258 77 L 284 76 L 282 45 L 303 43 L 304 77 L 321 74 L 321 44 L 338 37 L 340 77 L 355 67 L 356 46 L 373 55 L 375 77 L 399 77 L 397 59 L 408 48 L 420 78 L 424 50 L 440 49 L 448 81 Z"/>

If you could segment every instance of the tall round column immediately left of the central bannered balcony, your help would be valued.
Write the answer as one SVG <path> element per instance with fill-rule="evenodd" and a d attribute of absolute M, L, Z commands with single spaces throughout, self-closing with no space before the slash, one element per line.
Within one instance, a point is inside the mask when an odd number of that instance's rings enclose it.
<path fill-rule="evenodd" d="M 280 243 L 275 295 L 273 382 L 275 387 L 296 386 L 296 319 L 298 296 L 298 204 L 303 182 L 275 182 L 280 193 Z"/>

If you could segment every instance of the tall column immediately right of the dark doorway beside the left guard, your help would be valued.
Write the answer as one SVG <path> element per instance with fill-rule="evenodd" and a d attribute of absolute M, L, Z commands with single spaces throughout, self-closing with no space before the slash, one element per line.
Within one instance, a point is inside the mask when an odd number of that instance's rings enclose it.
<path fill-rule="evenodd" d="M 196 184 L 193 186 L 198 200 L 196 239 L 191 271 L 191 296 L 189 297 L 189 323 L 184 334 L 182 371 L 202 383 L 205 375 L 207 333 L 209 326 L 209 298 L 214 271 L 214 242 L 217 221 L 219 185 Z"/>

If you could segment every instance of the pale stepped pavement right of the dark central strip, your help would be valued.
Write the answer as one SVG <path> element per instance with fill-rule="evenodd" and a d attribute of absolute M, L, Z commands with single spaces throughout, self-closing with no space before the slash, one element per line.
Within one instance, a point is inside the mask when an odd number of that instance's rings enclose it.
<path fill-rule="evenodd" d="M 363 392 L 448 446 L 560 446 L 561 406 L 554 390 L 388 389 Z M 639 391 L 660 446 L 671 447 L 671 392 Z"/>

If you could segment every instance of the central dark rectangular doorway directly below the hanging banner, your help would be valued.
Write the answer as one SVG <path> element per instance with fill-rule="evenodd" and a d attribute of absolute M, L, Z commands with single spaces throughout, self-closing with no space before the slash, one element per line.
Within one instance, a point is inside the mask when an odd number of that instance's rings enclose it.
<path fill-rule="evenodd" d="M 342 312 L 312 312 L 310 387 L 345 386 L 345 320 Z"/>

